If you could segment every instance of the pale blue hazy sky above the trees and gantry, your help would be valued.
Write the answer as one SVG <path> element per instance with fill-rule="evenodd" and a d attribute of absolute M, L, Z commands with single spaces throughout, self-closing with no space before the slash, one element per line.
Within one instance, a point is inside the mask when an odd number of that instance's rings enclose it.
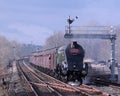
<path fill-rule="evenodd" d="M 68 16 L 76 25 L 120 24 L 120 0 L 0 0 L 0 35 L 21 43 L 43 45 L 56 31 L 64 31 Z"/>

